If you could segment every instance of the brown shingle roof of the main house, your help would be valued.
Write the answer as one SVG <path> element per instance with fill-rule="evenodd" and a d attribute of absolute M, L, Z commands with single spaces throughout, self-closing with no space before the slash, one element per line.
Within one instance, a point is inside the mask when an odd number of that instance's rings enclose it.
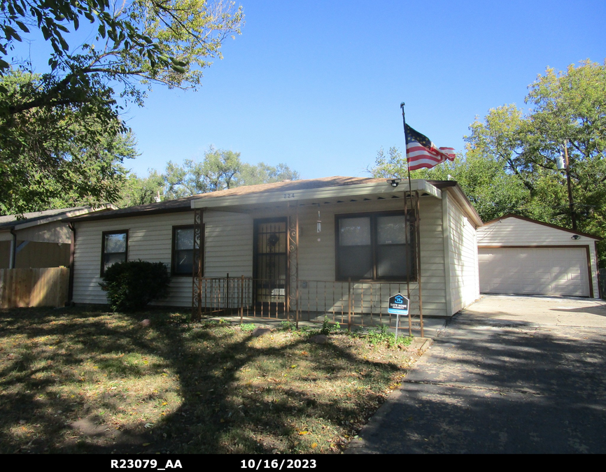
<path fill-rule="evenodd" d="M 423 180 L 413 180 L 413 182 L 425 182 Z M 460 196 L 465 199 L 467 205 L 470 208 L 470 212 L 479 216 L 474 210 L 473 206 L 467 200 L 467 197 L 460 190 L 458 184 L 454 181 L 449 180 L 429 180 L 427 181 L 430 186 L 435 187 L 432 191 L 437 192 L 436 189 L 442 189 L 444 187 L 455 187 L 459 190 Z M 344 177 L 344 176 L 333 176 L 316 179 L 306 180 L 284 180 L 282 182 L 267 183 L 260 185 L 248 185 L 244 187 L 235 187 L 232 189 L 219 190 L 218 192 L 209 192 L 205 194 L 197 194 L 192 196 L 186 196 L 181 199 L 161 201 L 158 203 L 147 203 L 145 205 L 130 206 L 128 208 L 120 208 L 118 210 L 108 211 L 100 215 L 85 215 L 82 217 L 71 218 L 73 221 L 83 220 L 104 220 L 108 218 L 128 217 L 128 216 L 143 216 L 153 215 L 157 213 L 172 213 L 180 211 L 189 211 L 195 208 L 204 207 L 216 207 L 219 206 L 219 202 L 222 202 L 225 206 L 243 201 L 254 201 L 256 196 L 260 198 L 262 196 L 279 195 L 283 192 L 303 192 L 305 194 L 312 194 L 313 191 L 321 191 L 322 189 L 335 189 L 337 193 L 346 194 L 344 187 L 351 187 L 359 189 L 361 186 L 368 187 L 384 187 L 392 190 L 391 187 L 386 186 L 385 178 L 365 178 L 365 177 Z M 430 187 L 427 186 L 427 187 Z M 338 189 L 341 188 L 344 192 L 340 192 Z M 414 187 L 413 187 L 414 188 Z M 429 188 L 428 188 L 428 191 Z M 479 220 L 481 224 L 481 220 Z"/>

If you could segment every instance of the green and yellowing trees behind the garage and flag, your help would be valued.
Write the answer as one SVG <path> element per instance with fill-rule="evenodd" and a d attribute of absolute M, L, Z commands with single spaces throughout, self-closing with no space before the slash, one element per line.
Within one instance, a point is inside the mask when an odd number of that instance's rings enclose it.
<path fill-rule="evenodd" d="M 606 62 L 548 68 L 528 90 L 528 111 L 512 104 L 489 110 L 470 125 L 464 154 L 411 176 L 450 175 L 484 221 L 515 213 L 570 228 L 566 177 L 556 166 L 566 141 L 578 229 L 606 237 Z M 397 148 L 380 150 L 370 171 L 403 177 L 406 162 Z M 606 266 L 606 241 L 598 249 Z"/>

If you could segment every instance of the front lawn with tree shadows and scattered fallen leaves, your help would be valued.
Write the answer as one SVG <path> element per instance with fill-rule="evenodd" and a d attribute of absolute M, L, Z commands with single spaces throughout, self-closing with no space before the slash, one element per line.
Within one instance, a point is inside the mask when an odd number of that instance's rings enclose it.
<path fill-rule="evenodd" d="M 252 328 L 0 310 L 0 453 L 340 452 L 414 362 L 384 330 Z"/>

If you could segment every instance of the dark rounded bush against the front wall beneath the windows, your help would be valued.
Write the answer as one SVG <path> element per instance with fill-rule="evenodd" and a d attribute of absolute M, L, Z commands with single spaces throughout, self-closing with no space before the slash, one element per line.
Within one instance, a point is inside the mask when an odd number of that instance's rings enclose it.
<path fill-rule="evenodd" d="M 162 262 L 129 261 L 109 266 L 101 289 L 114 311 L 142 310 L 152 300 L 165 299 L 169 294 L 170 276 Z"/>

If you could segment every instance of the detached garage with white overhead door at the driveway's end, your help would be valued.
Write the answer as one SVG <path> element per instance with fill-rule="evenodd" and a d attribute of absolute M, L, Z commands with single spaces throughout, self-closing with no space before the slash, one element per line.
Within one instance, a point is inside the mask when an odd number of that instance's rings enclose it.
<path fill-rule="evenodd" d="M 506 215 L 477 230 L 480 292 L 598 298 L 598 236 Z"/>

